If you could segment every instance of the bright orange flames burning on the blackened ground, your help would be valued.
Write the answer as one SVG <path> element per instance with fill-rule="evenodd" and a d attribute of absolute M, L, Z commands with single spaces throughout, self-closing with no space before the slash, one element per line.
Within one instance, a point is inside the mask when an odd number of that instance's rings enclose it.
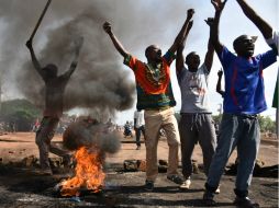
<path fill-rule="evenodd" d="M 81 147 L 75 153 L 75 158 L 77 160 L 76 176 L 62 182 L 62 196 L 79 196 L 80 187 L 87 187 L 94 193 L 100 192 L 105 178 L 101 153 L 89 152 L 87 148 Z"/>

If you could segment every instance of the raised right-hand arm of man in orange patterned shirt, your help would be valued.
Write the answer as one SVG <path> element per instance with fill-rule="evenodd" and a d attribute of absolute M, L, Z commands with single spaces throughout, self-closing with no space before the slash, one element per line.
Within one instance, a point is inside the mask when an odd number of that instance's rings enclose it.
<path fill-rule="evenodd" d="M 193 13 L 194 13 L 193 9 L 189 9 L 187 11 L 187 19 L 186 19 L 186 21 L 183 23 L 183 26 L 181 27 L 180 32 L 178 33 L 174 44 L 170 46 L 169 51 L 175 54 L 177 51 L 178 47 L 185 41 L 185 38 L 187 36 L 186 35 L 187 34 L 187 27 L 188 27 L 188 24 L 189 24 L 189 22 L 191 21 L 192 16 L 193 16 Z M 189 33 L 189 31 L 188 31 L 188 33 Z"/>

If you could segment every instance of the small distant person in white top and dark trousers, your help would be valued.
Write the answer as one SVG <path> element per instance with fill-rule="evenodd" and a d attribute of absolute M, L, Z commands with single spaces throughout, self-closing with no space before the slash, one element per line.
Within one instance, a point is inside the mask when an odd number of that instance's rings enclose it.
<path fill-rule="evenodd" d="M 134 113 L 134 129 L 135 129 L 135 141 L 136 150 L 141 149 L 141 135 L 145 136 L 144 128 L 144 111 L 136 109 Z"/>

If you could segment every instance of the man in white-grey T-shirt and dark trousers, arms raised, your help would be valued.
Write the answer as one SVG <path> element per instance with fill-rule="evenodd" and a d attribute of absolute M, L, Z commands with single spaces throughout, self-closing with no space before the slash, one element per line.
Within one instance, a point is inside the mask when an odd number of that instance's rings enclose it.
<path fill-rule="evenodd" d="M 193 13 L 194 11 L 192 11 Z M 205 22 L 210 24 L 210 21 L 212 20 L 209 19 Z M 188 54 L 185 58 L 182 51 L 191 27 L 192 22 L 189 23 L 185 39 L 178 47 L 176 61 L 177 79 L 181 90 L 182 102 L 181 118 L 178 124 L 181 141 L 182 174 L 185 177 L 183 183 L 180 185 L 182 189 L 190 188 L 190 177 L 193 172 L 191 157 L 194 145 L 199 142 L 201 146 L 205 175 L 208 175 L 211 159 L 216 147 L 215 128 L 208 95 L 208 82 L 214 48 L 209 41 L 204 62 L 201 66 L 200 56 L 196 51 Z"/>

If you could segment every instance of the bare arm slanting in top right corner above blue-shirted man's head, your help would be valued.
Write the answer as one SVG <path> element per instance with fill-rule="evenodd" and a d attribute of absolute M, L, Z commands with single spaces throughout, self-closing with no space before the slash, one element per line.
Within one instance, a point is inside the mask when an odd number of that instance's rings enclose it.
<path fill-rule="evenodd" d="M 258 27 L 266 39 L 272 37 L 272 27 L 261 19 L 246 0 L 236 0 L 244 14 Z"/>

